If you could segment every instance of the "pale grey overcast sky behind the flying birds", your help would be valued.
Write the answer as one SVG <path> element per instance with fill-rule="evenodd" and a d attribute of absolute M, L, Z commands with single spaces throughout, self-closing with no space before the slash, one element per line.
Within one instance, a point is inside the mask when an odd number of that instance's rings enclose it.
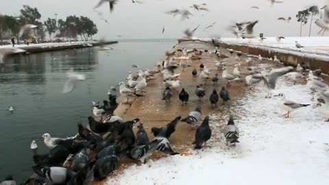
<path fill-rule="evenodd" d="M 0 14 L 19 15 L 24 4 L 38 8 L 42 14 L 42 21 L 48 17 L 65 18 L 69 15 L 88 16 L 99 29 L 100 37 L 117 38 L 180 38 L 186 28 L 200 25 L 195 36 L 211 36 L 220 34 L 232 37 L 226 27 L 234 21 L 260 21 L 254 27 L 256 34 L 265 36 L 299 36 L 299 26 L 295 15 L 310 5 L 324 5 L 325 0 L 280 0 L 284 3 L 271 6 L 267 0 L 141 0 L 144 3 L 132 3 L 131 0 L 119 0 L 110 14 L 108 3 L 97 10 L 103 12 L 103 18 L 108 19 L 110 25 L 100 19 L 93 11 L 98 0 L 1 0 Z M 193 3 L 207 3 L 210 12 L 195 12 L 189 8 Z M 257 5 L 260 9 L 250 9 Z M 164 14 L 175 8 L 188 8 L 193 12 L 189 20 L 180 21 L 169 14 Z M 277 21 L 280 16 L 291 16 L 291 23 Z M 208 24 L 217 24 L 204 32 Z M 319 32 L 319 27 L 313 23 L 313 36 Z M 166 27 L 161 34 L 162 27 Z M 308 36 L 309 25 L 304 26 L 303 36 Z"/>

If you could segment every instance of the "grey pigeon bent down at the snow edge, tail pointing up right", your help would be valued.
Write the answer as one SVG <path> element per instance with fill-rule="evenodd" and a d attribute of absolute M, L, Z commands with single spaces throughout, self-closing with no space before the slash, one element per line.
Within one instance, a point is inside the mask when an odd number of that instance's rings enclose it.
<path fill-rule="evenodd" d="M 146 159 L 152 155 L 152 153 L 158 148 L 158 145 L 162 142 L 162 139 L 154 139 L 151 143 L 145 145 L 138 145 L 130 151 L 130 156 L 133 159 L 141 162 L 146 162 Z"/>

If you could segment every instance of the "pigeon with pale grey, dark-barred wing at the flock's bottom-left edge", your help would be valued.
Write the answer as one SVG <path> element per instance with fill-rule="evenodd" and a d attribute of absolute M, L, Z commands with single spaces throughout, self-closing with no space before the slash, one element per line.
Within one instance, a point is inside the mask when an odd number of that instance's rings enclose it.
<path fill-rule="evenodd" d="M 69 178 L 69 173 L 63 167 L 32 167 L 33 171 L 40 177 L 43 177 L 51 182 L 51 184 L 66 184 Z"/>

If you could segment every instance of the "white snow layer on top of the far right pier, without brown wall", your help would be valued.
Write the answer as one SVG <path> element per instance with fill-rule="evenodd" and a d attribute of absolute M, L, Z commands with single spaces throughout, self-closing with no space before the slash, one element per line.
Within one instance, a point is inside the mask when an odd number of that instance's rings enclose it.
<path fill-rule="evenodd" d="M 247 46 L 269 52 L 285 53 L 305 58 L 329 61 L 329 37 L 288 37 L 281 39 L 280 42 L 277 42 L 274 37 L 269 37 L 263 42 L 260 42 L 258 38 L 221 38 L 219 41 L 228 45 Z M 299 42 L 304 48 L 297 49 L 295 47 L 295 41 Z"/>

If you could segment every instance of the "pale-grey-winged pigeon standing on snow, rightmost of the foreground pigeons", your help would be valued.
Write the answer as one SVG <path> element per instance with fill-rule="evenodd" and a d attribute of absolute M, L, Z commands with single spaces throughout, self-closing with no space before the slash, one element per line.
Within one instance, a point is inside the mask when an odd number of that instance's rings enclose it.
<path fill-rule="evenodd" d="M 236 127 L 233 121 L 233 116 L 230 116 L 230 119 L 228 120 L 228 125 L 226 125 L 223 129 L 223 134 L 226 139 L 226 145 L 233 143 L 240 143 L 239 142 L 239 128 Z"/>

